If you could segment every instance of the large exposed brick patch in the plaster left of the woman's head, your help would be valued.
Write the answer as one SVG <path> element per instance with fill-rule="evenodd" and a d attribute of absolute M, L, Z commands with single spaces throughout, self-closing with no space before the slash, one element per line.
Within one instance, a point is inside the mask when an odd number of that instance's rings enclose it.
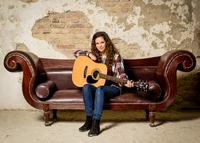
<path fill-rule="evenodd" d="M 49 13 L 36 21 L 33 37 L 48 41 L 61 53 L 70 56 L 75 49 L 89 50 L 92 25 L 82 12 Z"/>

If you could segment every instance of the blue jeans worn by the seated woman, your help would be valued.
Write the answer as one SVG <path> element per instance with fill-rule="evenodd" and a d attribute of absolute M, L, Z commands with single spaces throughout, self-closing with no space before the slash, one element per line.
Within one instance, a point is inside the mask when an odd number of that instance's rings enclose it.
<path fill-rule="evenodd" d="M 114 86 L 95 87 L 91 84 L 85 84 L 82 93 L 86 116 L 91 116 L 94 120 L 100 120 L 104 101 L 118 96 L 120 89 Z"/>

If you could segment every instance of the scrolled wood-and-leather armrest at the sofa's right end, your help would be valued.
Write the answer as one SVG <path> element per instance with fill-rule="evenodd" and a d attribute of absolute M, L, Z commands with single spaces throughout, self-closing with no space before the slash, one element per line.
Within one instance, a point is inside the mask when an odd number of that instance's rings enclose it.
<path fill-rule="evenodd" d="M 156 74 L 159 84 L 164 90 L 164 101 L 161 104 L 171 104 L 175 98 L 177 93 L 177 70 L 190 72 L 195 66 L 195 56 L 186 50 L 172 50 L 160 57 Z"/>

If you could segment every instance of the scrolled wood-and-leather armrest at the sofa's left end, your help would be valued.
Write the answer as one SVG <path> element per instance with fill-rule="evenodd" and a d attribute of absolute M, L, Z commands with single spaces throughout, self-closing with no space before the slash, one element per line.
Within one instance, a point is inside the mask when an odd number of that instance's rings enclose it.
<path fill-rule="evenodd" d="M 35 94 L 35 87 L 46 78 L 40 59 L 31 52 L 11 51 L 4 58 L 4 67 L 10 72 L 23 71 L 24 98 L 31 106 L 42 109 L 42 104 Z"/>

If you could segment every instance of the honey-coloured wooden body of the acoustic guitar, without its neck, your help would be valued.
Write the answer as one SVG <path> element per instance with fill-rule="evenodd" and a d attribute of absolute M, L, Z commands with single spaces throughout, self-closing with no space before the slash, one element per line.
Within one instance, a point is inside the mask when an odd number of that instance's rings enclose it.
<path fill-rule="evenodd" d="M 96 87 L 104 85 L 106 79 L 99 78 L 99 74 L 107 74 L 107 66 L 95 63 L 87 56 L 78 56 L 72 70 L 72 81 L 77 87 L 92 84 Z"/>

